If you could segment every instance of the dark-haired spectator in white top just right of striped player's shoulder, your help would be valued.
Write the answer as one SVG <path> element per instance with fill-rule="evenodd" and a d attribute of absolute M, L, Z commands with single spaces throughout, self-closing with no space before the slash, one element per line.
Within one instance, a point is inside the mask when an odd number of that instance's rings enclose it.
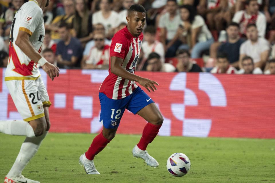
<path fill-rule="evenodd" d="M 144 59 L 148 58 L 148 55 L 152 52 L 156 52 L 160 55 L 161 61 L 164 63 L 164 47 L 161 42 L 156 40 L 156 28 L 152 25 L 148 25 L 144 29 L 144 39 L 141 48 L 144 53 Z"/>

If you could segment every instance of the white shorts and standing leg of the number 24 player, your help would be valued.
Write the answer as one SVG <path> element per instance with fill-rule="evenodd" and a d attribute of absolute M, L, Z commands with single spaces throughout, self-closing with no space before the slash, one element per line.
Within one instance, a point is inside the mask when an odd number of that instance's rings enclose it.
<path fill-rule="evenodd" d="M 20 82 L 22 82 L 22 85 L 20 85 Z M 48 107 L 44 106 L 45 109 L 43 108 L 44 102 L 46 106 L 50 104 L 48 94 L 47 92 L 43 92 L 42 94 L 40 92 L 41 87 L 46 91 L 41 78 L 35 81 L 8 81 L 6 83 L 18 112 L 21 114 L 24 121 L 26 121 L 25 123 L 28 123 L 32 127 L 34 133 L 34 136 L 26 137 L 15 163 L 6 178 L 14 182 L 39 183 L 38 181 L 24 178 L 21 172 L 30 159 L 36 154 L 42 140 L 48 133 L 48 131 L 46 131 L 49 130 L 50 124 L 48 120 Z M 47 101 L 44 100 L 45 98 Z"/>

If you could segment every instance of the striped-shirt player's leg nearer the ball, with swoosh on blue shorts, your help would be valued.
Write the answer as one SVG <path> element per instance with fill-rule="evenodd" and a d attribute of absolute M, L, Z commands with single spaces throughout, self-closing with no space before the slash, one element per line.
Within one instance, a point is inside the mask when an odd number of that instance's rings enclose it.
<path fill-rule="evenodd" d="M 140 142 L 132 150 L 133 156 L 144 159 L 149 166 L 158 167 L 158 162 L 148 154 L 146 148 L 157 136 L 163 123 L 161 112 L 154 101 L 140 87 L 137 87 L 133 92 L 127 109 L 148 121 L 143 129 Z"/>

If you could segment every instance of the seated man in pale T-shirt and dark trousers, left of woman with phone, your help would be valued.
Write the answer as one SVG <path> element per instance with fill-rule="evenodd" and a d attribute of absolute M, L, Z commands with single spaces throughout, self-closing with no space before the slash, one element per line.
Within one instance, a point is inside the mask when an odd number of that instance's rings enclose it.
<path fill-rule="evenodd" d="M 168 46 L 168 43 L 176 35 L 178 26 L 180 25 L 180 15 L 176 0 L 167 0 L 166 10 L 167 13 L 161 15 L 159 19 L 160 41 L 165 46 L 166 57 L 174 57 L 181 44 L 179 40 L 176 40 Z"/>

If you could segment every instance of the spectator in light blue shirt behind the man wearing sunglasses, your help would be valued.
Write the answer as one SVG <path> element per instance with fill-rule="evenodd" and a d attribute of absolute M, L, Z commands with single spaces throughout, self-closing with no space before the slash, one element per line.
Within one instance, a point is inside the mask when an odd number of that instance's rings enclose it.
<path fill-rule="evenodd" d="M 101 24 L 101 23 L 97 23 L 93 26 L 93 34 L 97 34 L 97 33 L 103 33 L 105 34 L 105 28 L 104 26 Z M 104 45 L 111 45 L 111 41 L 107 38 L 104 39 Z M 90 50 L 92 47 L 95 46 L 95 40 L 91 40 L 89 41 L 86 46 L 85 46 L 85 49 L 84 49 L 84 52 L 83 52 L 83 56 L 89 56 L 89 53 L 90 53 Z"/>

